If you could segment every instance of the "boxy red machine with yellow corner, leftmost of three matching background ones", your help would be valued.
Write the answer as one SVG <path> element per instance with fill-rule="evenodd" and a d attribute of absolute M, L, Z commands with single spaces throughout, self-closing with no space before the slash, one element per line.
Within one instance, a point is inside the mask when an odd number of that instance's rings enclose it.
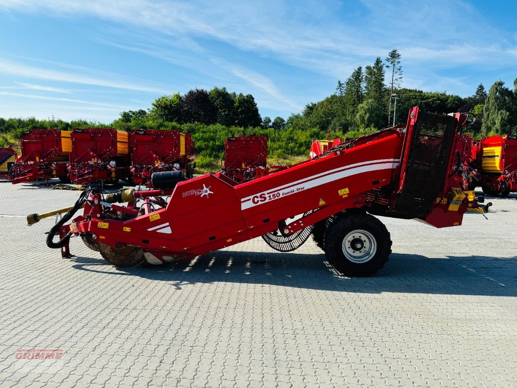
<path fill-rule="evenodd" d="M 12 183 L 49 181 L 69 182 L 67 163 L 72 145 L 70 132 L 59 129 L 31 129 L 22 132 L 21 156 L 12 168 Z"/>

